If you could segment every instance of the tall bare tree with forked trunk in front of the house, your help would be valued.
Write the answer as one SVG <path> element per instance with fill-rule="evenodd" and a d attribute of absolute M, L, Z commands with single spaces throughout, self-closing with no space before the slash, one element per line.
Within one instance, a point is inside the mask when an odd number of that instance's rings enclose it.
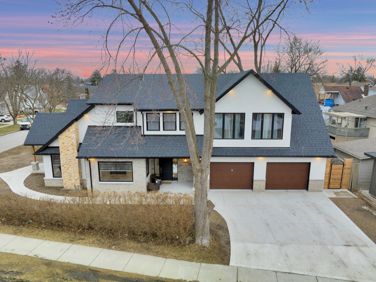
<path fill-rule="evenodd" d="M 104 49 L 109 60 L 115 61 L 120 55 L 121 47 L 126 47 L 127 61 L 121 63 L 134 74 L 147 72 L 151 69 L 166 75 L 170 91 L 176 101 L 185 126 L 186 139 L 190 151 L 194 174 L 195 187 L 195 241 L 199 245 L 208 246 L 210 242 L 209 215 L 214 204 L 207 197 L 207 180 L 213 148 L 215 127 L 215 98 L 217 92 L 218 75 L 223 72 L 230 62 L 237 62 L 241 66 L 238 51 L 246 44 L 254 30 L 261 27 L 276 9 L 265 8 L 263 18 L 255 26 L 251 24 L 253 5 L 257 7 L 263 0 L 255 3 L 243 1 L 168 1 L 168 0 L 55 0 L 61 9 L 57 12 L 58 20 L 68 28 L 91 20 L 96 15 L 105 15 L 109 20 L 105 31 Z M 284 1 L 282 1 L 284 2 Z M 290 2 L 287 1 L 286 2 Z M 311 0 L 291 1 L 291 3 L 307 4 Z M 265 6 L 266 7 L 266 6 Z M 269 6 L 268 6 L 269 7 Z M 247 11 L 248 10 L 248 11 Z M 247 11 L 243 14 L 242 11 Z M 236 12 L 236 13 L 235 13 Z M 102 20 L 102 19 L 101 19 Z M 183 26 L 182 23 L 186 22 Z M 244 25 L 244 22 L 247 22 Z M 120 30 L 117 29 L 120 27 Z M 183 30 L 184 28 L 184 30 Z M 111 35 L 122 32 L 116 51 L 112 54 L 109 46 Z M 140 64 L 136 61 L 136 54 L 140 54 L 139 46 L 145 46 L 145 38 L 150 40 L 150 52 L 147 62 Z M 228 43 L 228 44 L 227 44 Z M 139 46 L 138 46 L 139 45 Z M 224 50 L 220 50 L 219 46 Z M 228 56 L 220 62 L 220 52 Z M 184 75 L 184 61 L 194 59 L 203 73 L 204 124 L 203 145 L 200 156 L 196 131 L 193 123 L 192 105 L 190 101 L 189 83 Z M 173 75 L 173 73 L 175 75 Z M 201 157 L 201 158 L 200 158 Z"/>

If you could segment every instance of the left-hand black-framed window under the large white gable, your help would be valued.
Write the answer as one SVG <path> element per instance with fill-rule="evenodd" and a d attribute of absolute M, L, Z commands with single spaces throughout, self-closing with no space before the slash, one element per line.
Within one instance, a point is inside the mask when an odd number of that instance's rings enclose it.
<path fill-rule="evenodd" d="M 244 139 L 245 115 L 215 114 L 214 139 Z"/>

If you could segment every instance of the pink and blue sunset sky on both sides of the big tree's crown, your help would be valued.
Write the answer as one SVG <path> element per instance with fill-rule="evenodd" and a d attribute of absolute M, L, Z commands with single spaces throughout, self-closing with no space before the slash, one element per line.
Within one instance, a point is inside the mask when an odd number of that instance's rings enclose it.
<path fill-rule="evenodd" d="M 352 62 L 352 56 L 376 57 L 376 5 L 374 0 L 316 0 L 310 14 L 294 14 L 289 28 L 309 40 L 320 40 L 327 50 L 328 74 L 339 75 L 336 63 Z M 9 56 L 19 48 L 35 50 L 39 66 L 79 70 L 88 77 L 102 64 L 102 41 L 95 24 L 60 30 L 51 17 L 53 0 L 0 0 L 0 54 Z M 52 24 L 53 22 L 53 24 Z M 267 59 L 273 60 L 277 36 L 268 41 Z M 146 41 L 145 41 L 146 42 Z M 249 56 L 247 56 L 249 52 Z M 253 50 L 242 50 L 244 69 L 252 69 Z M 187 65 L 192 72 L 194 65 Z M 371 72 L 376 75 L 376 69 Z"/>

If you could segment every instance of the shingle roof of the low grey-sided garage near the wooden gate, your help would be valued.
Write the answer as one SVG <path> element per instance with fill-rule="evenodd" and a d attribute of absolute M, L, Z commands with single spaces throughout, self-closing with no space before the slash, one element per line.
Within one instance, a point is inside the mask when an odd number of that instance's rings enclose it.
<path fill-rule="evenodd" d="M 345 152 L 357 159 L 368 159 L 364 152 L 374 151 L 376 149 L 376 137 L 367 139 L 358 139 L 346 142 L 334 143 L 333 147 Z"/>

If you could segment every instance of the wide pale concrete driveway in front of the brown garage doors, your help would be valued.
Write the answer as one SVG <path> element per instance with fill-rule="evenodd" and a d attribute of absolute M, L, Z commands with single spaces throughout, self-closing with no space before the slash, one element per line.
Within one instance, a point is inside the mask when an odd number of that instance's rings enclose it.
<path fill-rule="evenodd" d="M 210 191 L 230 265 L 375 281 L 376 245 L 323 192 Z"/>

